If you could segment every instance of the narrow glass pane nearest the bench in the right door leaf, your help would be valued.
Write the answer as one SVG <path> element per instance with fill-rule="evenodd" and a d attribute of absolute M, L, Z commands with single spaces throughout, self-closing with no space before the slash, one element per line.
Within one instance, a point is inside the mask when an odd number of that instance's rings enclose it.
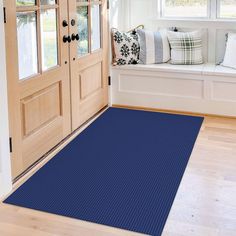
<path fill-rule="evenodd" d="M 91 33 L 92 51 L 101 48 L 101 20 L 100 20 L 100 6 L 93 5 L 91 8 Z"/>

